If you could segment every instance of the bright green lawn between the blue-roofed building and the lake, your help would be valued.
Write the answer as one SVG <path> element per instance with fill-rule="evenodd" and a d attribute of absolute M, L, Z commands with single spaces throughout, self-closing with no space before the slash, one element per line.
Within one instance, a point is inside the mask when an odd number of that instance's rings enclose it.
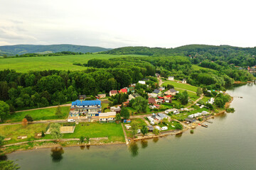
<path fill-rule="evenodd" d="M 75 132 L 64 134 L 63 138 L 108 137 L 110 142 L 124 142 L 124 132 L 121 124 L 116 123 L 79 123 L 75 125 Z"/>

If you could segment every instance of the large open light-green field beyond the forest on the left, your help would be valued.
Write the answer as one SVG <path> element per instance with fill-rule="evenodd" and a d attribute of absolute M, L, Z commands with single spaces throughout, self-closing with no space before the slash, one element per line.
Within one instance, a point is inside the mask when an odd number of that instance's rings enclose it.
<path fill-rule="evenodd" d="M 79 71 L 87 69 L 73 65 L 73 63 L 85 64 L 93 58 L 109 59 L 112 57 L 140 56 L 140 55 L 64 55 L 50 57 L 14 57 L 0 59 L 0 70 L 15 69 L 16 72 L 41 71 L 48 69 Z"/>

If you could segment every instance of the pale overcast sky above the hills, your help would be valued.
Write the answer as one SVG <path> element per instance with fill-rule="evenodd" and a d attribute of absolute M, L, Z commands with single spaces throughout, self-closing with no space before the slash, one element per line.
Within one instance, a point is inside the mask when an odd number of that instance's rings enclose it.
<path fill-rule="evenodd" d="M 0 45 L 256 46 L 255 0 L 0 0 Z"/>

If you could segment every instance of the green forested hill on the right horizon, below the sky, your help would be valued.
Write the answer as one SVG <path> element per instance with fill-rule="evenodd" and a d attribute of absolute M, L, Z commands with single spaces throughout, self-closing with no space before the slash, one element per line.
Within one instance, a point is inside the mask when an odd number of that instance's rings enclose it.
<path fill-rule="evenodd" d="M 233 47 L 229 45 L 184 45 L 176 48 L 120 47 L 101 52 L 112 55 L 182 55 L 191 57 L 193 64 L 209 60 L 221 64 L 235 64 L 246 67 L 256 65 L 256 47 Z"/>

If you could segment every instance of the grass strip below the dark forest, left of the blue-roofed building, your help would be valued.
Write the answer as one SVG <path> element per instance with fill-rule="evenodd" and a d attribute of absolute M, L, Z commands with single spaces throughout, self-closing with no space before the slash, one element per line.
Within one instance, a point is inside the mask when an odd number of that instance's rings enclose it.
<path fill-rule="evenodd" d="M 68 113 L 70 110 L 69 106 L 61 107 L 62 116 L 57 117 L 55 115 L 57 108 L 42 108 L 35 111 L 23 111 L 14 113 L 6 119 L 6 122 L 21 122 L 25 115 L 29 114 L 32 116 L 33 120 L 50 120 L 50 119 L 65 119 L 68 118 Z"/>

